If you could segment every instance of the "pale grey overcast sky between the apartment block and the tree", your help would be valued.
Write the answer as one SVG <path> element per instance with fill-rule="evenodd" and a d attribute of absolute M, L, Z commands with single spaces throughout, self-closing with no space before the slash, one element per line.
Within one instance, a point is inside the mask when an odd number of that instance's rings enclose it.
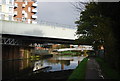
<path fill-rule="evenodd" d="M 79 13 L 70 2 L 38 2 L 38 21 L 74 25 Z"/>

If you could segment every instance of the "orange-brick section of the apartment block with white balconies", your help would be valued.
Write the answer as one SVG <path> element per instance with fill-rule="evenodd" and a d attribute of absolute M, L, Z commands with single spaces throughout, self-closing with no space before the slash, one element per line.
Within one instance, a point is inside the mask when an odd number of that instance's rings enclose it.
<path fill-rule="evenodd" d="M 26 23 L 37 23 L 37 3 L 32 0 L 15 0 L 14 20 Z"/>

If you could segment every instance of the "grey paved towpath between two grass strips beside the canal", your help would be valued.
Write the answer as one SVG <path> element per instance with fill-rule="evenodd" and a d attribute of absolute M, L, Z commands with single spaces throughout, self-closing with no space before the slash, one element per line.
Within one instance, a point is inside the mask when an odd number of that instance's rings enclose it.
<path fill-rule="evenodd" d="M 101 74 L 99 64 L 93 57 L 88 58 L 85 79 L 104 79 Z"/>

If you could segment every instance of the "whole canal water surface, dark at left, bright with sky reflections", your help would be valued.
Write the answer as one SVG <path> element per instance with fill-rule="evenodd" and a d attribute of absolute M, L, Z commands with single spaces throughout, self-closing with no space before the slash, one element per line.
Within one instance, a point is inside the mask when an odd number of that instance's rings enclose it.
<path fill-rule="evenodd" d="M 14 60 L 3 61 L 2 79 L 14 79 L 24 75 L 39 72 L 51 72 L 75 69 L 84 57 L 81 56 L 58 56 L 40 60 Z"/>

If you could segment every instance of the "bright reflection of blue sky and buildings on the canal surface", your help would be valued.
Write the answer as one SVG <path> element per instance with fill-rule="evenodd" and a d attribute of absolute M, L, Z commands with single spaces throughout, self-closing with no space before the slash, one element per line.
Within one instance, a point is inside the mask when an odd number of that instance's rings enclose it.
<path fill-rule="evenodd" d="M 71 57 L 71 56 L 54 56 L 49 59 L 36 61 L 34 64 L 33 71 L 40 70 L 46 67 L 51 67 L 49 71 L 59 71 L 59 70 L 68 70 L 75 69 L 76 66 L 84 57 Z"/>

